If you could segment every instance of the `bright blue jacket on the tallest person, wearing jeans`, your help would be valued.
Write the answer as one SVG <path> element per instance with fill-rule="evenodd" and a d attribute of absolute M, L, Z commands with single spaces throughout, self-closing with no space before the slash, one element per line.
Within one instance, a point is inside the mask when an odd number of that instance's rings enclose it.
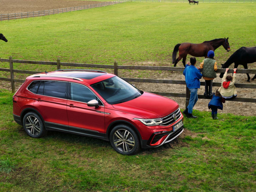
<path fill-rule="evenodd" d="M 186 84 L 189 89 L 200 88 L 199 79 L 201 79 L 203 75 L 194 65 L 187 64 L 183 75 L 185 76 Z"/>

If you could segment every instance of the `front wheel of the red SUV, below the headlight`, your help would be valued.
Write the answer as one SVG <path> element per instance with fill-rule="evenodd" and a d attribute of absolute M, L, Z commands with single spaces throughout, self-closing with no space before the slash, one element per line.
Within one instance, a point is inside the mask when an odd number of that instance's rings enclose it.
<path fill-rule="evenodd" d="M 116 152 L 134 155 L 140 151 L 138 134 L 128 125 L 116 125 L 110 132 L 110 143 Z"/>

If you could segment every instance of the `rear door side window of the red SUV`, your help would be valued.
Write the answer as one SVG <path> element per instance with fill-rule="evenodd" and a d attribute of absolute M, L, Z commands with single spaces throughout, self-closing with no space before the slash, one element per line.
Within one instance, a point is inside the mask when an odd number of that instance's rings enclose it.
<path fill-rule="evenodd" d="M 50 97 L 57 97 L 61 99 L 67 99 L 67 84 L 67 82 L 62 81 L 44 81 L 44 95 Z"/>

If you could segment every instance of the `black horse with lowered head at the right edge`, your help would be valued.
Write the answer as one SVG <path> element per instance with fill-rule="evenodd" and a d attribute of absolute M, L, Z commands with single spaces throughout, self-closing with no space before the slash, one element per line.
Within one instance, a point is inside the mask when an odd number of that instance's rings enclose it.
<path fill-rule="evenodd" d="M 248 69 L 248 63 L 256 62 L 256 47 L 241 47 L 236 52 L 234 52 L 228 60 L 221 64 L 222 68 L 228 68 L 232 63 L 235 63 L 234 68 L 237 68 L 238 65 L 243 65 L 244 69 Z M 224 73 L 220 73 L 220 78 L 222 78 Z M 250 76 L 246 74 L 248 79 L 247 81 L 250 82 Z M 254 80 L 256 75 L 252 78 Z"/>

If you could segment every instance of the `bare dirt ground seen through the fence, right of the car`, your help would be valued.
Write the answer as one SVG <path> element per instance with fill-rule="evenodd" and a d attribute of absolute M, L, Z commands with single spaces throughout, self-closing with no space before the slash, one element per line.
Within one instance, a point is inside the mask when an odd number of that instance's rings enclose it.
<path fill-rule="evenodd" d="M 128 64 L 125 64 L 128 65 Z M 129 63 L 129 65 L 131 65 Z M 133 65 L 143 65 L 143 66 L 170 66 L 169 63 L 153 63 L 153 62 L 139 62 Z M 197 64 L 199 66 L 199 63 Z M 181 67 L 179 65 L 179 67 Z M 221 68 L 220 64 L 218 64 L 218 68 Z M 234 64 L 230 66 L 230 68 L 234 68 Z M 238 68 L 242 69 L 242 66 Z M 249 69 L 255 69 L 255 64 L 248 64 Z M 119 70 L 118 75 L 120 77 L 129 77 L 129 78 L 148 78 L 148 79 L 172 79 L 172 80 L 185 80 L 183 73 L 181 71 L 148 71 L 148 70 Z M 217 74 L 217 78 L 213 80 L 213 82 L 221 83 L 220 74 Z M 232 74 L 230 74 L 232 75 Z M 251 78 L 254 76 L 250 74 Z M 202 78 L 201 81 L 204 81 Z M 240 84 L 256 84 L 256 81 L 247 82 L 246 74 L 237 74 L 236 75 L 236 83 Z M 137 88 L 142 91 L 147 92 L 172 92 L 172 93 L 186 93 L 186 85 L 182 84 L 156 84 L 156 83 L 137 83 L 132 82 Z M 217 90 L 218 87 L 213 87 L 213 92 Z M 238 97 L 241 98 L 256 98 L 255 89 L 247 89 L 247 88 L 237 88 Z M 204 86 L 201 86 L 198 89 L 198 94 L 204 94 Z M 180 97 L 168 97 L 172 100 L 175 100 L 180 108 L 185 108 L 185 98 Z M 194 109 L 200 111 L 211 111 L 208 109 L 208 103 L 210 100 L 199 99 L 194 107 Z M 256 103 L 247 103 L 247 102 L 235 102 L 235 101 L 226 101 L 223 104 L 223 111 L 218 110 L 218 113 L 232 113 L 236 115 L 243 116 L 256 116 Z"/>

